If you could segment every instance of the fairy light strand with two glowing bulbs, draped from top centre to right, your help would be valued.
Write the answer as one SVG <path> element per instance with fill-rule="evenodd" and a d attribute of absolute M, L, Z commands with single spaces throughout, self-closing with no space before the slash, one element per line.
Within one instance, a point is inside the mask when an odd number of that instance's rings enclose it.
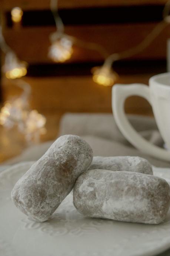
<path fill-rule="evenodd" d="M 50 35 L 51 46 L 49 49 L 49 57 L 55 62 L 64 62 L 70 59 L 73 54 L 73 44 L 88 48 L 89 50 L 98 51 L 99 54 L 104 57 L 105 61 L 102 66 L 92 68 L 91 73 L 93 74 L 93 81 L 103 86 L 112 86 L 119 78 L 119 75 L 112 67 L 114 61 L 126 59 L 143 51 L 170 23 L 170 0 L 168 0 L 163 9 L 163 20 L 154 27 L 140 44 L 126 51 L 109 55 L 107 50 L 100 44 L 81 41 L 80 39 L 65 34 L 64 24 L 58 12 L 57 0 L 51 0 L 50 7 L 56 23 L 56 32 Z"/>

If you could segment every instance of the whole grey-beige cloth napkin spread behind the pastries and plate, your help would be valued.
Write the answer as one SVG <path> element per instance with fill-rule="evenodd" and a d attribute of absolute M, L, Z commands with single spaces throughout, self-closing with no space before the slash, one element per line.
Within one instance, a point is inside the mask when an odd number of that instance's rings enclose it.
<path fill-rule="evenodd" d="M 151 117 L 129 116 L 134 128 L 151 143 L 160 147 L 163 140 Z M 85 139 L 93 149 L 94 156 L 141 156 L 158 167 L 170 167 L 170 162 L 150 157 L 135 149 L 121 134 L 112 114 L 66 113 L 60 122 L 59 136 L 76 134 Z M 50 147 L 52 141 L 31 146 L 4 164 L 38 160 Z"/>

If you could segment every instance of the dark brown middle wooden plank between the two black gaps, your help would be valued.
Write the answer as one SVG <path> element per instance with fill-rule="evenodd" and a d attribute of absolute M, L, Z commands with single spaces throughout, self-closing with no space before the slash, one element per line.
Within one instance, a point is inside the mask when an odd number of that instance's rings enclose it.
<path fill-rule="evenodd" d="M 113 24 L 66 26 L 66 33 L 84 42 L 99 43 L 111 53 L 127 50 L 139 44 L 156 26 L 157 23 Z M 170 25 L 150 44 L 131 59 L 165 59 L 166 42 L 169 38 Z M 6 29 L 4 37 L 20 59 L 28 63 L 51 63 L 48 58 L 50 46 L 49 35 L 54 27 L 27 27 L 20 30 Z M 94 50 L 74 46 L 69 62 L 96 62 L 103 57 Z"/>

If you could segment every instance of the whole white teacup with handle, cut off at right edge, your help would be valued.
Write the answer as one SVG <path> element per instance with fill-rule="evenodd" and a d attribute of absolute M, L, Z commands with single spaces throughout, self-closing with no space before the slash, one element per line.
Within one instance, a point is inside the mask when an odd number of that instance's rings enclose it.
<path fill-rule="evenodd" d="M 145 140 L 129 123 L 124 112 L 124 101 L 132 95 L 144 97 L 151 104 L 167 150 Z M 150 156 L 170 161 L 170 73 L 151 77 L 149 87 L 144 84 L 114 85 L 112 88 L 112 110 L 117 126 L 131 144 Z"/>

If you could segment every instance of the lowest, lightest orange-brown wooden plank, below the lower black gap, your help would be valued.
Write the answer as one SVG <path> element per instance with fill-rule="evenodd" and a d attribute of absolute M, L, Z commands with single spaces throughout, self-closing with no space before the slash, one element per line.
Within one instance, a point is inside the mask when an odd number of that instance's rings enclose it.
<path fill-rule="evenodd" d="M 118 83 L 148 83 L 153 74 L 121 76 Z M 99 86 L 91 76 L 25 77 L 32 88 L 31 107 L 40 112 L 111 112 L 111 87 Z M 3 96 L 21 93 L 9 80 L 3 79 Z M 151 114 L 151 107 L 140 97 L 126 101 L 126 112 Z"/>

